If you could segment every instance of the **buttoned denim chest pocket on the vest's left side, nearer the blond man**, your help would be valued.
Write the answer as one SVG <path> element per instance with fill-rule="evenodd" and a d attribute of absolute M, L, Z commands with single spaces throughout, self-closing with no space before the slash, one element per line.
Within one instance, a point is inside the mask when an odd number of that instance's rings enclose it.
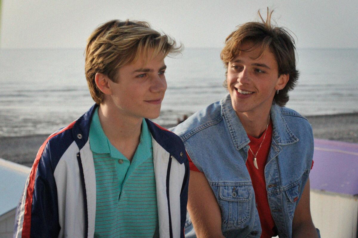
<path fill-rule="evenodd" d="M 218 186 L 222 223 L 228 227 L 244 223 L 250 216 L 252 186 Z"/>

